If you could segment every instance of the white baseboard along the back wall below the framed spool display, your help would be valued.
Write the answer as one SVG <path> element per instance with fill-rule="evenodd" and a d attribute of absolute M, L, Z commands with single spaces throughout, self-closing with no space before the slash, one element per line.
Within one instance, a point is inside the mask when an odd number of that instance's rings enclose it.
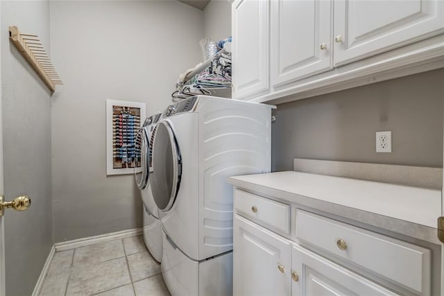
<path fill-rule="evenodd" d="M 86 245 L 95 245 L 96 243 L 106 243 L 107 241 L 114 241 L 114 239 L 128 238 L 131 236 L 138 236 L 143 233 L 143 228 L 122 230 L 121 232 L 112 232 L 110 234 L 101 234 L 99 236 L 89 236 L 86 238 L 78 238 L 73 241 L 63 241 L 54 244 L 56 252 L 75 249 L 76 247 L 85 247 Z"/>

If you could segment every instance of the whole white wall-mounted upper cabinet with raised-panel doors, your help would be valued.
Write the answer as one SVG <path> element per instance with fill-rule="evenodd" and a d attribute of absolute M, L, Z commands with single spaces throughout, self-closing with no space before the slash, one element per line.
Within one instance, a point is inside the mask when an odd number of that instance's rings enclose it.
<path fill-rule="evenodd" d="M 284 103 L 444 67 L 444 0 L 235 0 L 232 37 L 232 97 Z"/>

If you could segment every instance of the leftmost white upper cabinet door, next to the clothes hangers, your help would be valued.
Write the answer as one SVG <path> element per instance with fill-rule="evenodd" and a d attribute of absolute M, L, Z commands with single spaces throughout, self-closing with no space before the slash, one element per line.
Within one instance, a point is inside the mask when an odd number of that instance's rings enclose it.
<path fill-rule="evenodd" d="M 269 3 L 232 3 L 232 97 L 245 98 L 269 87 Z"/>

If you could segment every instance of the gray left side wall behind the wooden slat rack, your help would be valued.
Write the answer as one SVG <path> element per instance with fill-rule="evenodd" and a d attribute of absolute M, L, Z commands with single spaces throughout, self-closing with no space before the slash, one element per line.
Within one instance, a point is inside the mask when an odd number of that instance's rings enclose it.
<path fill-rule="evenodd" d="M 49 49 L 48 1 L 1 1 L 4 194 L 30 195 L 28 211 L 8 210 L 6 295 L 31 295 L 53 245 L 51 218 L 51 98 L 8 40 L 8 26 L 40 36 Z"/>

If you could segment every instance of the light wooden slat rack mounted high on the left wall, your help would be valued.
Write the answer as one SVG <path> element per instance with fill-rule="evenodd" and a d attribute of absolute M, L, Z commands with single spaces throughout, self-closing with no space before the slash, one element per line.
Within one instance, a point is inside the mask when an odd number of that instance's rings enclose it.
<path fill-rule="evenodd" d="M 10 26 L 9 39 L 51 89 L 51 92 L 56 90 L 56 85 L 63 84 L 37 35 L 23 34 L 19 32 L 17 26 Z"/>

